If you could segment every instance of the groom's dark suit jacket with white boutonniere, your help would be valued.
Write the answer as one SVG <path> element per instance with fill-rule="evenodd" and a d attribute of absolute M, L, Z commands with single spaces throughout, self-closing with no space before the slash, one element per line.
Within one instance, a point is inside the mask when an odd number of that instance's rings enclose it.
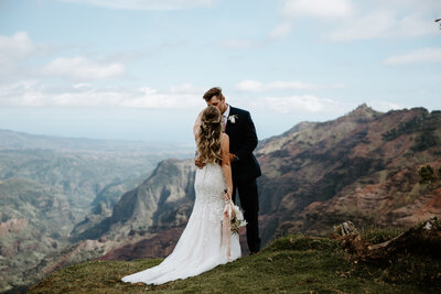
<path fill-rule="evenodd" d="M 260 165 L 252 151 L 257 146 L 256 128 L 248 111 L 229 106 L 229 117 L 225 133 L 229 137 L 229 152 L 239 157 L 232 163 L 233 183 L 246 182 L 261 175 Z"/>

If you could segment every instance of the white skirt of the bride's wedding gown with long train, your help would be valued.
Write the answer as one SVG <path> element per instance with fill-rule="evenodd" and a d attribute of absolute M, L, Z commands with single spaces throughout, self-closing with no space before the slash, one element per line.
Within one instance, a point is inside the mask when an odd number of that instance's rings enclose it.
<path fill-rule="evenodd" d="M 189 222 L 173 252 L 161 264 L 131 275 L 122 282 L 163 284 L 178 279 L 198 275 L 213 268 L 240 258 L 237 233 L 230 238 L 229 259 L 222 244 L 225 177 L 217 164 L 197 168 L 194 183 L 196 199 Z"/>

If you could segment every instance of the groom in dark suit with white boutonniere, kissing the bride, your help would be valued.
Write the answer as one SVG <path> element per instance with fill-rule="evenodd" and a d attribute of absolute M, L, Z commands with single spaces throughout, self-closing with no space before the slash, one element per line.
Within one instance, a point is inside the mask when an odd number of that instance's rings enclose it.
<path fill-rule="evenodd" d="M 223 115 L 223 128 L 229 137 L 229 161 L 232 163 L 234 203 L 236 190 L 239 193 L 240 206 L 247 224 L 247 242 L 251 254 L 260 251 L 258 211 L 259 198 L 256 178 L 261 175 L 259 163 L 252 151 L 257 146 L 255 124 L 248 111 L 235 108 L 225 102 L 219 87 L 204 94 L 207 106 L 215 106 Z M 197 164 L 196 164 L 197 165 Z"/>

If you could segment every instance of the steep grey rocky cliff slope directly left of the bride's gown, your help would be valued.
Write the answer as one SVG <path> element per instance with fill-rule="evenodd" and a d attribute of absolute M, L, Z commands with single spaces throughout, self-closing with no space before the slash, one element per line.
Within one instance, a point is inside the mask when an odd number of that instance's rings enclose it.
<path fill-rule="evenodd" d="M 180 226 L 185 222 L 194 200 L 193 160 L 165 160 L 159 163 L 152 175 L 121 196 L 110 217 L 75 236 L 80 239 L 119 239 L 129 233 L 144 235 L 162 226 Z"/>

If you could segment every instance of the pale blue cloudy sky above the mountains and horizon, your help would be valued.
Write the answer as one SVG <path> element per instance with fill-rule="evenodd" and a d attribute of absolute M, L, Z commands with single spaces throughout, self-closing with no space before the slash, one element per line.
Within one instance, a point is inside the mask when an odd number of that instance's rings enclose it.
<path fill-rule="evenodd" d="M 192 143 L 220 86 L 259 139 L 441 109 L 441 1 L 0 0 L 0 129 Z"/>

